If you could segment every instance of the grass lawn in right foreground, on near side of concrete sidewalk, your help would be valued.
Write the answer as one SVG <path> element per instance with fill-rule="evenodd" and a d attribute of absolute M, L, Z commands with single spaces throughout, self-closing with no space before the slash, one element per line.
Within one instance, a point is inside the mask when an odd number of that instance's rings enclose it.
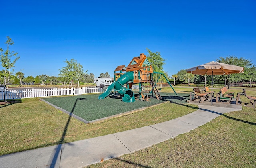
<path fill-rule="evenodd" d="M 88 168 L 255 168 L 256 110 L 225 113 L 174 139 Z"/>

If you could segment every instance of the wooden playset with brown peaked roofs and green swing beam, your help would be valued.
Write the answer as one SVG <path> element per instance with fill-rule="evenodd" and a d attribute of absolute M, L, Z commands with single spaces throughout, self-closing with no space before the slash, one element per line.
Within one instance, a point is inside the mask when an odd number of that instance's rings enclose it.
<path fill-rule="evenodd" d="M 165 77 L 168 84 L 172 87 L 163 73 L 153 71 L 146 55 L 143 53 L 138 57 L 134 57 L 127 67 L 125 65 L 118 66 L 114 71 L 114 80 L 117 81 L 127 72 L 133 72 L 134 79 L 126 84 L 126 88 L 131 89 L 132 85 L 138 84 L 138 92 L 134 93 L 136 99 L 149 101 L 151 97 L 154 97 L 153 93 L 155 94 L 156 99 L 162 99 L 160 89 L 156 87 L 161 75 Z M 175 91 L 174 93 L 177 95 Z"/>

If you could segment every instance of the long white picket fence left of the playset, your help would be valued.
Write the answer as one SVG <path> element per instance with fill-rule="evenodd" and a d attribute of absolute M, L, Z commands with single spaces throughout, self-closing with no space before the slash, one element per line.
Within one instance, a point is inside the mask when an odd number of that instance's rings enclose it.
<path fill-rule="evenodd" d="M 100 93 L 100 87 L 78 87 L 78 88 L 46 88 L 46 89 L 8 89 L 5 92 L 5 99 L 23 99 L 32 97 L 49 97 L 63 95 L 82 95 L 87 93 Z M 4 91 L 0 90 L 0 100 L 4 100 Z"/>

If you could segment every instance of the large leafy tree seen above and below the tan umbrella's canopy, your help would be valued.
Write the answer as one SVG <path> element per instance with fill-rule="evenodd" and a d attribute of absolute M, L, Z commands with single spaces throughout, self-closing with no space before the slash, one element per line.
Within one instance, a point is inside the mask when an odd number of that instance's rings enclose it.
<path fill-rule="evenodd" d="M 238 73 L 238 74 L 230 74 L 230 75 L 222 75 L 223 81 L 228 81 L 228 87 L 230 87 L 232 82 L 240 82 L 244 80 L 250 80 L 248 77 L 251 77 L 251 75 L 246 75 L 246 71 L 248 71 L 248 68 L 251 68 L 253 65 L 252 61 L 245 58 L 238 58 L 235 56 L 228 56 L 228 57 L 220 57 L 219 59 L 216 59 L 216 61 L 220 63 L 226 63 L 230 65 L 237 65 L 244 67 L 244 73 Z"/>

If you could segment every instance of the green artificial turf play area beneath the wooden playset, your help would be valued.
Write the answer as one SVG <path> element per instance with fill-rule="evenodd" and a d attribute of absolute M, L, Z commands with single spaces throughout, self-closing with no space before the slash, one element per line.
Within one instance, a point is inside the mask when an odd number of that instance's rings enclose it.
<path fill-rule="evenodd" d="M 109 117 L 112 115 L 124 113 L 142 107 L 149 107 L 160 104 L 165 101 L 172 101 L 174 103 L 186 103 L 189 95 L 179 93 L 178 96 L 174 93 L 160 93 L 163 100 L 151 98 L 150 101 L 136 100 L 133 103 L 122 102 L 120 97 L 110 96 L 99 100 L 100 94 L 74 95 L 66 97 L 51 97 L 44 98 L 45 101 L 56 105 L 86 121 L 92 121 Z"/>

